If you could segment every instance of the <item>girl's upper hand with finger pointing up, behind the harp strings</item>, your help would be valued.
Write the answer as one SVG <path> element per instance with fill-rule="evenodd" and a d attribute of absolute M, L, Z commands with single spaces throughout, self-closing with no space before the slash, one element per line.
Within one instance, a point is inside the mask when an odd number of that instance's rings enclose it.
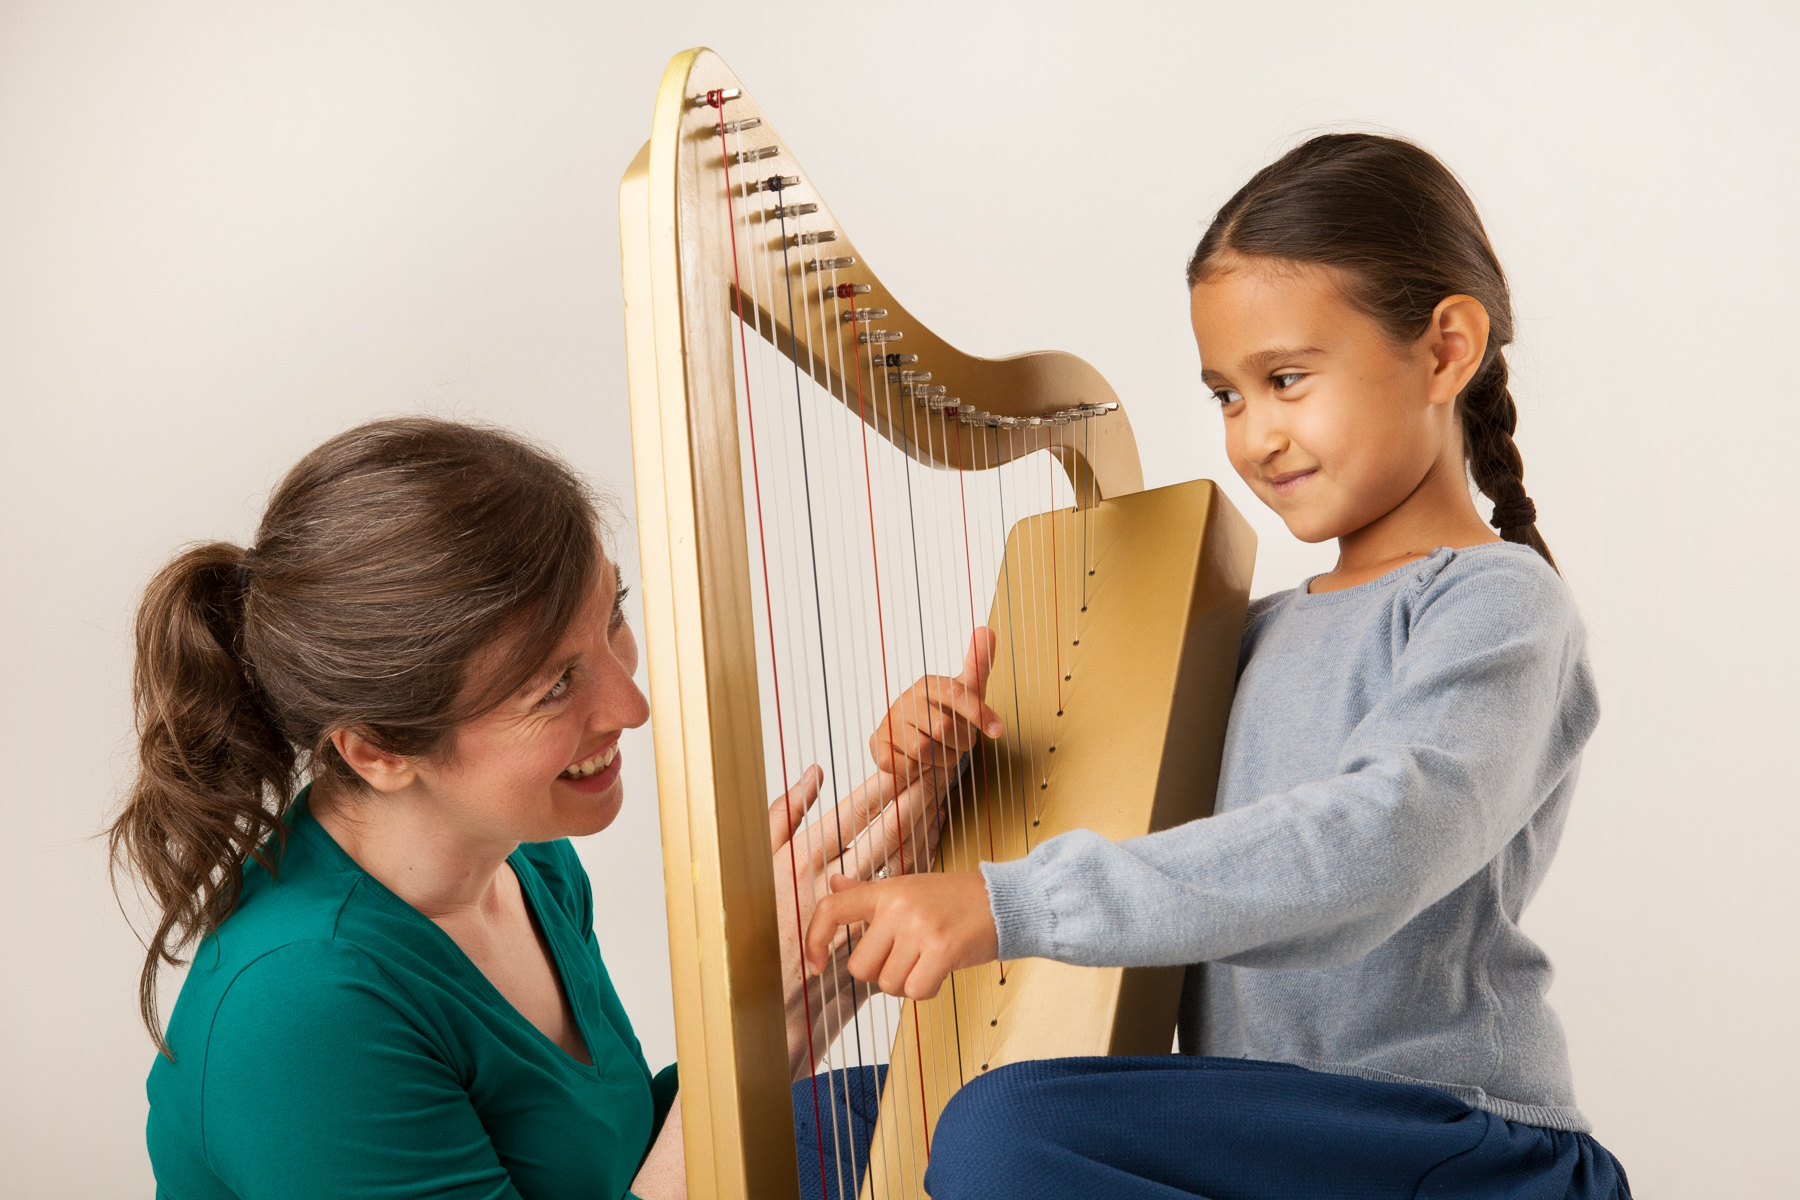
<path fill-rule="evenodd" d="M 999 714 L 981 700 L 997 642 L 994 630 L 976 630 L 961 675 L 954 680 L 927 675 L 895 700 L 869 736 L 875 770 L 900 783 L 929 774 L 936 786 L 943 786 L 956 774 L 963 750 L 972 748 L 981 734 L 999 738 L 1006 732 Z"/>

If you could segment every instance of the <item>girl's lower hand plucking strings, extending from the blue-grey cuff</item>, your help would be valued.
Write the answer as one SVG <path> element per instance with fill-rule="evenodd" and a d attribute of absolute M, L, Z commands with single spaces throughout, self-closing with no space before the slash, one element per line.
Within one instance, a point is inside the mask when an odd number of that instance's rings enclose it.
<path fill-rule="evenodd" d="M 837 876 L 806 928 L 806 966 L 823 972 L 833 939 L 862 925 L 850 973 L 887 995 L 929 1000 L 945 975 L 999 955 L 999 932 L 979 871 L 911 874 L 864 883 Z"/>

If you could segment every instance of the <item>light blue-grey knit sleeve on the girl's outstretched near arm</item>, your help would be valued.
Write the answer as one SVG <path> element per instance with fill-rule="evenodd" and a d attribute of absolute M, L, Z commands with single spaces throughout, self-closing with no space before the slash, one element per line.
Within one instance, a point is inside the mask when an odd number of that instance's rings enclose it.
<path fill-rule="evenodd" d="M 1330 777 L 1127 842 L 1076 829 L 983 864 L 1001 957 L 1354 963 L 1480 871 L 1575 770 L 1598 720 L 1580 640 L 1548 570 L 1444 572 Z"/>

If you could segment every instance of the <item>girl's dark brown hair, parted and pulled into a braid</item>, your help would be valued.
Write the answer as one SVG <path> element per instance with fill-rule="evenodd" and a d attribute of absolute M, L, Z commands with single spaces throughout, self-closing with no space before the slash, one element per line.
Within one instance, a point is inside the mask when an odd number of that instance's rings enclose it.
<path fill-rule="evenodd" d="M 1494 502 L 1494 525 L 1555 567 L 1525 495 L 1512 441 L 1519 410 L 1507 389 L 1512 295 L 1469 193 L 1429 153 L 1393 137 L 1325 133 L 1287 151 L 1226 201 L 1188 259 L 1188 288 L 1222 255 L 1334 266 L 1346 299 L 1390 338 L 1417 340 L 1440 300 L 1472 295 L 1487 309 L 1487 354 L 1456 398 L 1463 453 Z"/>

